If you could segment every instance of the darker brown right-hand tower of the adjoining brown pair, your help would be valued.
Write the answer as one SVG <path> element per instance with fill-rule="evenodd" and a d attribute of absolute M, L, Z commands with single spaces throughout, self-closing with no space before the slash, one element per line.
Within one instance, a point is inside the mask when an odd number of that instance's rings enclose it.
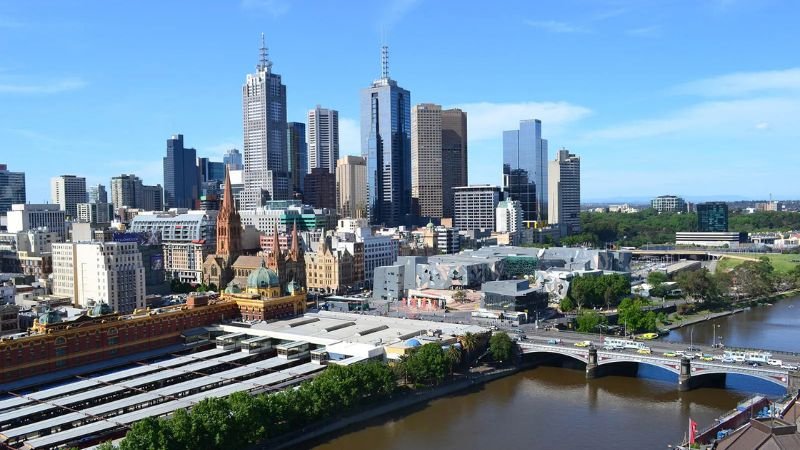
<path fill-rule="evenodd" d="M 442 111 L 442 216 L 453 217 L 453 188 L 467 186 L 467 113 Z"/>

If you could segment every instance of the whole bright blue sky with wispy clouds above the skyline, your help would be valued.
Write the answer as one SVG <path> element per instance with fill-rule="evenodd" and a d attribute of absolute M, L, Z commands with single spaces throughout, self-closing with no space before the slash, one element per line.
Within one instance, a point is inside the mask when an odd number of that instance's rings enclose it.
<path fill-rule="evenodd" d="M 800 198 L 800 3 L 787 0 L 0 0 L 0 163 L 90 184 L 163 183 L 165 140 L 241 148 L 241 84 L 266 34 L 290 121 L 390 74 L 469 115 L 472 183 L 500 183 L 502 130 L 540 118 L 582 158 L 584 200 Z"/>

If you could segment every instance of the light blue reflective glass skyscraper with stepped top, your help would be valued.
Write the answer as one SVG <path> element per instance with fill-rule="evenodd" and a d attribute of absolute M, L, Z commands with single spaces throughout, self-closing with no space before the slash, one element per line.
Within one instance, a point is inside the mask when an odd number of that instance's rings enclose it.
<path fill-rule="evenodd" d="M 547 158 L 541 120 L 503 132 L 503 190 L 522 203 L 525 222 L 547 220 Z"/>

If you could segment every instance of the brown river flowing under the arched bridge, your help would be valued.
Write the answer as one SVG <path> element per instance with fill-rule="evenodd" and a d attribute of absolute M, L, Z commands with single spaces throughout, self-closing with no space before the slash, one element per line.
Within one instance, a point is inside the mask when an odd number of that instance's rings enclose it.
<path fill-rule="evenodd" d="M 794 297 L 676 330 L 666 339 L 688 342 L 691 334 L 695 342 L 711 344 L 721 336 L 726 346 L 800 351 L 798 323 L 800 297 Z M 667 448 L 683 438 L 689 418 L 703 428 L 753 392 L 783 393 L 747 377 L 729 376 L 727 383 L 727 389 L 678 392 L 677 376 L 655 368 L 641 367 L 637 378 L 587 381 L 581 370 L 537 367 L 301 448 Z"/>

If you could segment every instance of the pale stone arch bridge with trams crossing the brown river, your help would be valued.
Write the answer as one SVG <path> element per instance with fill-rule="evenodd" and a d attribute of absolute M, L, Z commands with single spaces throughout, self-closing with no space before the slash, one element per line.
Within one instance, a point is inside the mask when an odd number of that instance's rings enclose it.
<path fill-rule="evenodd" d="M 594 342 L 592 342 L 592 339 Z M 574 344 L 590 341 L 587 347 Z M 555 343 L 554 343 L 555 342 Z M 744 363 L 725 363 L 721 360 L 702 361 L 687 357 L 666 356 L 670 352 L 682 350 L 687 344 L 661 341 L 645 341 L 651 347 L 651 354 L 637 353 L 636 350 L 606 350 L 602 347 L 599 336 L 578 333 L 537 333 L 517 342 L 522 355 L 555 354 L 562 355 L 586 365 L 586 378 L 603 376 L 631 364 L 647 364 L 659 367 L 678 375 L 678 389 L 686 391 L 707 383 L 724 382 L 727 374 L 738 374 L 758 378 L 777 384 L 787 392 L 800 390 L 800 371 L 781 368 L 780 366 L 752 366 Z M 695 346 L 697 347 L 697 346 Z M 703 353 L 713 354 L 718 349 L 700 349 Z M 661 353 L 663 352 L 663 353 Z M 793 354 L 774 355 L 784 363 L 795 367 L 800 365 L 800 356 Z"/>

